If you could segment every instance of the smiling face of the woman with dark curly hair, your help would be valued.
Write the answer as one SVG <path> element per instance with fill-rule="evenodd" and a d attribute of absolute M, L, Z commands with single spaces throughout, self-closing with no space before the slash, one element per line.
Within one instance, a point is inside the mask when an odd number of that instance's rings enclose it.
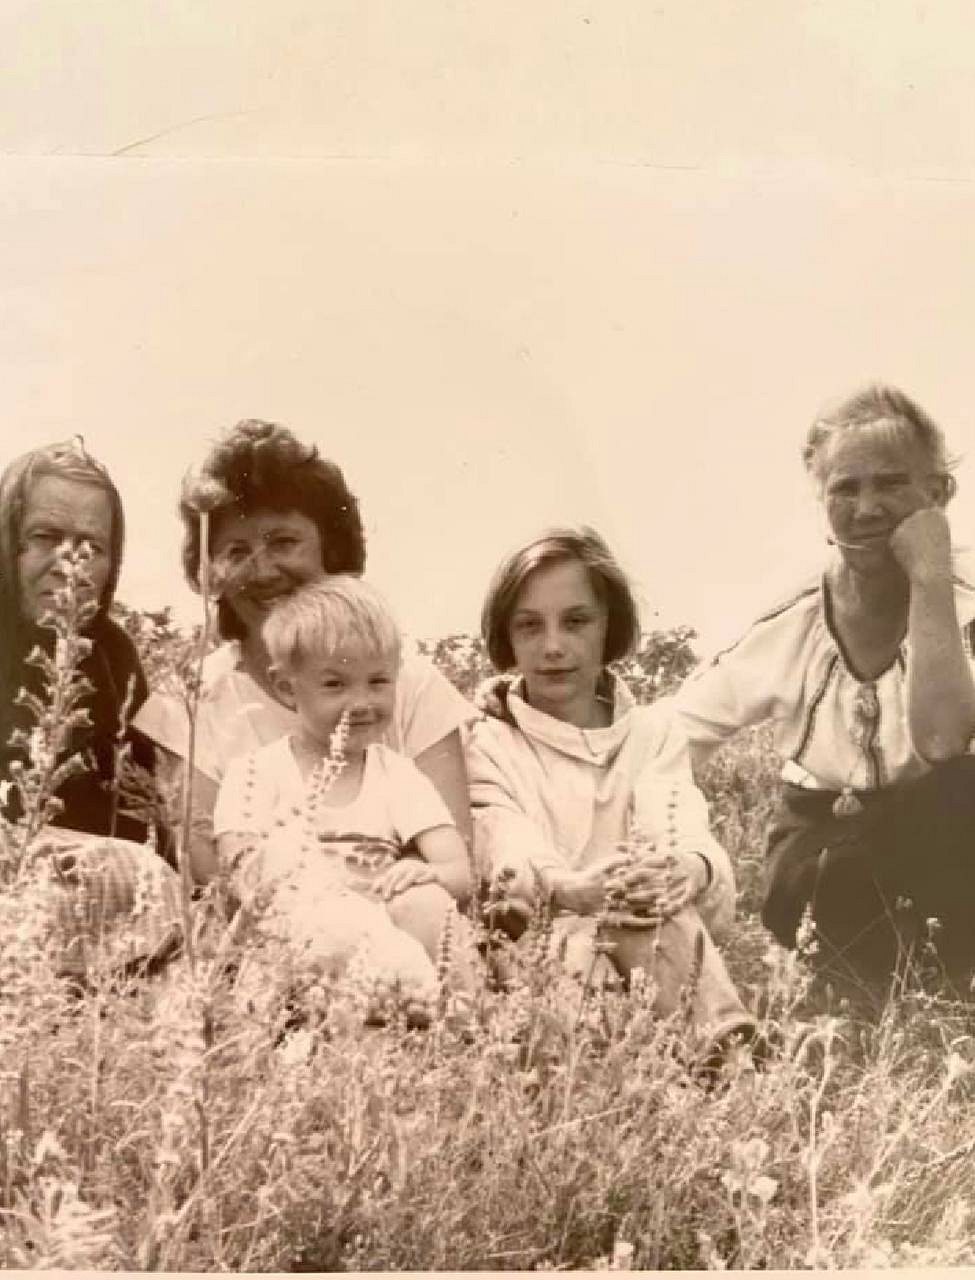
<path fill-rule="evenodd" d="M 260 631 L 278 600 L 325 576 L 319 526 L 299 511 L 224 516 L 210 536 L 210 559 L 248 635 Z"/>

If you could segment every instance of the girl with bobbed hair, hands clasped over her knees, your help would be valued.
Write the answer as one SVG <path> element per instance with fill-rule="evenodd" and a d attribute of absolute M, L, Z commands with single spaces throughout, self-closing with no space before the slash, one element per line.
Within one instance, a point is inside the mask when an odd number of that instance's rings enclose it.
<path fill-rule="evenodd" d="M 754 1019 L 711 936 L 732 920 L 732 869 L 686 745 L 668 707 L 636 705 L 608 666 L 640 634 L 609 548 L 591 529 L 517 548 L 488 589 L 481 630 L 495 668 L 514 673 L 495 682 L 468 750 L 481 867 L 513 901 L 550 904 L 571 974 L 606 965 L 596 923 L 618 908 L 604 924 L 618 979 L 644 969 L 663 1015 L 694 986 L 701 1050 L 750 1038 Z"/>

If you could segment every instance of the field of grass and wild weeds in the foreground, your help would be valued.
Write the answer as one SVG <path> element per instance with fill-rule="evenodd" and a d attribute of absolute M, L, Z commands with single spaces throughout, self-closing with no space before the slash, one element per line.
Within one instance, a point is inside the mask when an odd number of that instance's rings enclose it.
<path fill-rule="evenodd" d="M 464 685 L 463 650 L 438 654 Z M 159 646 L 154 649 L 159 662 Z M 907 974 L 873 1019 L 809 989 L 756 919 L 768 740 L 709 774 L 734 859 L 728 950 L 774 1046 L 705 1089 L 679 1019 L 567 986 L 546 922 L 511 989 L 408 1030 L 369 975 L 313 983 L 287 948 L 189 908 L 192 957 L 54 977 L 44 831 L 6 832 L 0 897 L 5 1267 L 440 1270 L 975 1262 L 967 1005 Z M 15 855 L 15 856 L 14 856 Z M 246 922 L 244 922 L 246 923 Z M 449 950 L 449 942 L 445 950 Z M 385 1025 L 363 1025 L 386 998 Z"/>

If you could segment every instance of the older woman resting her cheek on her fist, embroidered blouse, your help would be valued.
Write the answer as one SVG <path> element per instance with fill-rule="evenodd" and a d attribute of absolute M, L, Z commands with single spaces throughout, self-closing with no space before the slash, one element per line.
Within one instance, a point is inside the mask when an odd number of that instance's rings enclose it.
<path fill-rule="evenodd" d="M 957 576 L 944 436 L 870 385 L 802 448 L 836 548 L 823 573 L 691 676 L 677 705 L 696 763 L 770 721 L 783 760 L 763 919 L 843 987 L 883 991 L 934 941 L 975 963 L 975 590 Z M 802 929 L 805 934 L 806 929 Z"/>

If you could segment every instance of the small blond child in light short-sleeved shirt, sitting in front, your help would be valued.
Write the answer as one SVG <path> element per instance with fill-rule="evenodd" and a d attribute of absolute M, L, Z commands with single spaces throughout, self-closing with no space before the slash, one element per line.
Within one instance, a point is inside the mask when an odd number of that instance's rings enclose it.
<path fill-rule="evenodd" d="M 276 604 L 262 637 L 296 724 L 226 767 L 214 835 L 234 892 L 266 896 L 262 927 L 326 973 L 358 959 L 421 997 L 447 928 L 453 979 L 470 988 L 463 838 L 429 778 L 383 742 L 400 662 L 388 607 L 337 575 Z"/>

